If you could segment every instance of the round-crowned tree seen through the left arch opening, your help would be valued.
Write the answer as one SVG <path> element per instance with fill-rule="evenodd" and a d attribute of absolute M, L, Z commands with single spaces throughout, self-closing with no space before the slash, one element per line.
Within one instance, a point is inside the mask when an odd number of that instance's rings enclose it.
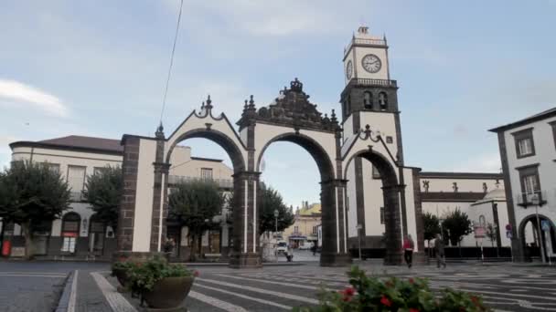
<path fill-rule="evenodd" d="M 218 224 L 212 218 L 222 210 L 225 199 L 219 192 L 219 185 L 211 181 L 188 181 L 176 184 L 168 196 L 169 218 L 187 226 L 193 242 L 191 260 L 195 251 L 201 254 L 203 232 Z"/>

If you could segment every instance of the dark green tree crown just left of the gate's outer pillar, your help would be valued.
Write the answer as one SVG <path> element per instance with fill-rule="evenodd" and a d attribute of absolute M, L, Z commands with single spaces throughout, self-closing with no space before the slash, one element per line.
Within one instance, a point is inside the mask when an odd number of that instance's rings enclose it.
<path fill-rule="evenodd" d="M 87 178 L 83 197 L 104 223 L 116 229 L 123 195 L 122 168 L 107 166 Z"/>

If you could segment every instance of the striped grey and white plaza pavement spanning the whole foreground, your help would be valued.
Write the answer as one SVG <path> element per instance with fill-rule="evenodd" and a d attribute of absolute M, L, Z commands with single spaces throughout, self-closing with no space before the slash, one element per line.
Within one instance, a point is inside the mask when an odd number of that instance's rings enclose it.
<path fill-rule="evenodd" d="M 296 258 L 313 257 L 304 253 Z M 378 261 L 361 266 L 378 276 L 427 277 L 433 290 L 453 287 L 478 293 L 499 311 L 556 311 L 554 267 L 467 263 L 449 264 L 442 270 L 435 265 L 409 269 Z M 0 310 L 52 311 L 64 286 L 67 294 L 73 290 L 74 295 L 60 311 L 139 310 L 135 298 L 115 292 L 117 282 L 108 276 L 109 268 L 102 263 L 0 262 Z M 303 265 L 267 265 L 257 270 L 215 265 L 197 269 L 200 276 L 185 301 L 189 311 L 291 310 L 314 305 L 322 285 L 348 286 L 346 268 L 323 268 L 308 260 Z"/>

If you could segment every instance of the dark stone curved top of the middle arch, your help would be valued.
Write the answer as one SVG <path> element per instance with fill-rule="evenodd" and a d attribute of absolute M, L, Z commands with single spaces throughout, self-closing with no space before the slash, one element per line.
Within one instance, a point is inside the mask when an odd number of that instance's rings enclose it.
<path fill-rule="evenodd" d="M 316 140 L 312 139 L 311 137 L 305 134 L 296 134 L 294 132 L 287 132 L 279 134 L 273 139 L 268 140 L 264 146 L 262 146 L 261 151 L 259 152 L 259 157 L 255 164 L 255 171 L 260 172 L 260 166 L 262 161 L 262 156 L 264 155 L 264 151 L 276 141 L 287 141 L 292 142 L 294 144 L 299 145 L 305 151 L 307 151 L 311 157 L 316 162 L 316 166 L 318 167 L 318 171 L 320 172 L 321 181 L 327 182 L 334 179 L 334 166 L 332 165 L 332 160 L 326 153 L 326 150 L 319 144 Z"/>

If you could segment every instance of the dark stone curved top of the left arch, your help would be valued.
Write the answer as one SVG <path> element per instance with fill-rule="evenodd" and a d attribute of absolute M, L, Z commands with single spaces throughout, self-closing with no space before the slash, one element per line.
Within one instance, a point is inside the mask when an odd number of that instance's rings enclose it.
<path fill-rule="evenodd" d="M 245 170 L 245 159 L 241 153 L 240 147 L 225 133 L 220 132 L 219 130 L 207 130 L 206 128 L 188 130 L 187 132 L 180 134 L 176 139 L 168 140 L 168 143 L 171 145 L 166 152 L 166 163 L 170 163 L 172 151 L 174 151 L 174 148 L 176 148 L 176 145 L 179 142 L 194 138 L 207 139 L 219 144 L 219 146 L 230 156 L 234 173 L 243 172 Z"/>

